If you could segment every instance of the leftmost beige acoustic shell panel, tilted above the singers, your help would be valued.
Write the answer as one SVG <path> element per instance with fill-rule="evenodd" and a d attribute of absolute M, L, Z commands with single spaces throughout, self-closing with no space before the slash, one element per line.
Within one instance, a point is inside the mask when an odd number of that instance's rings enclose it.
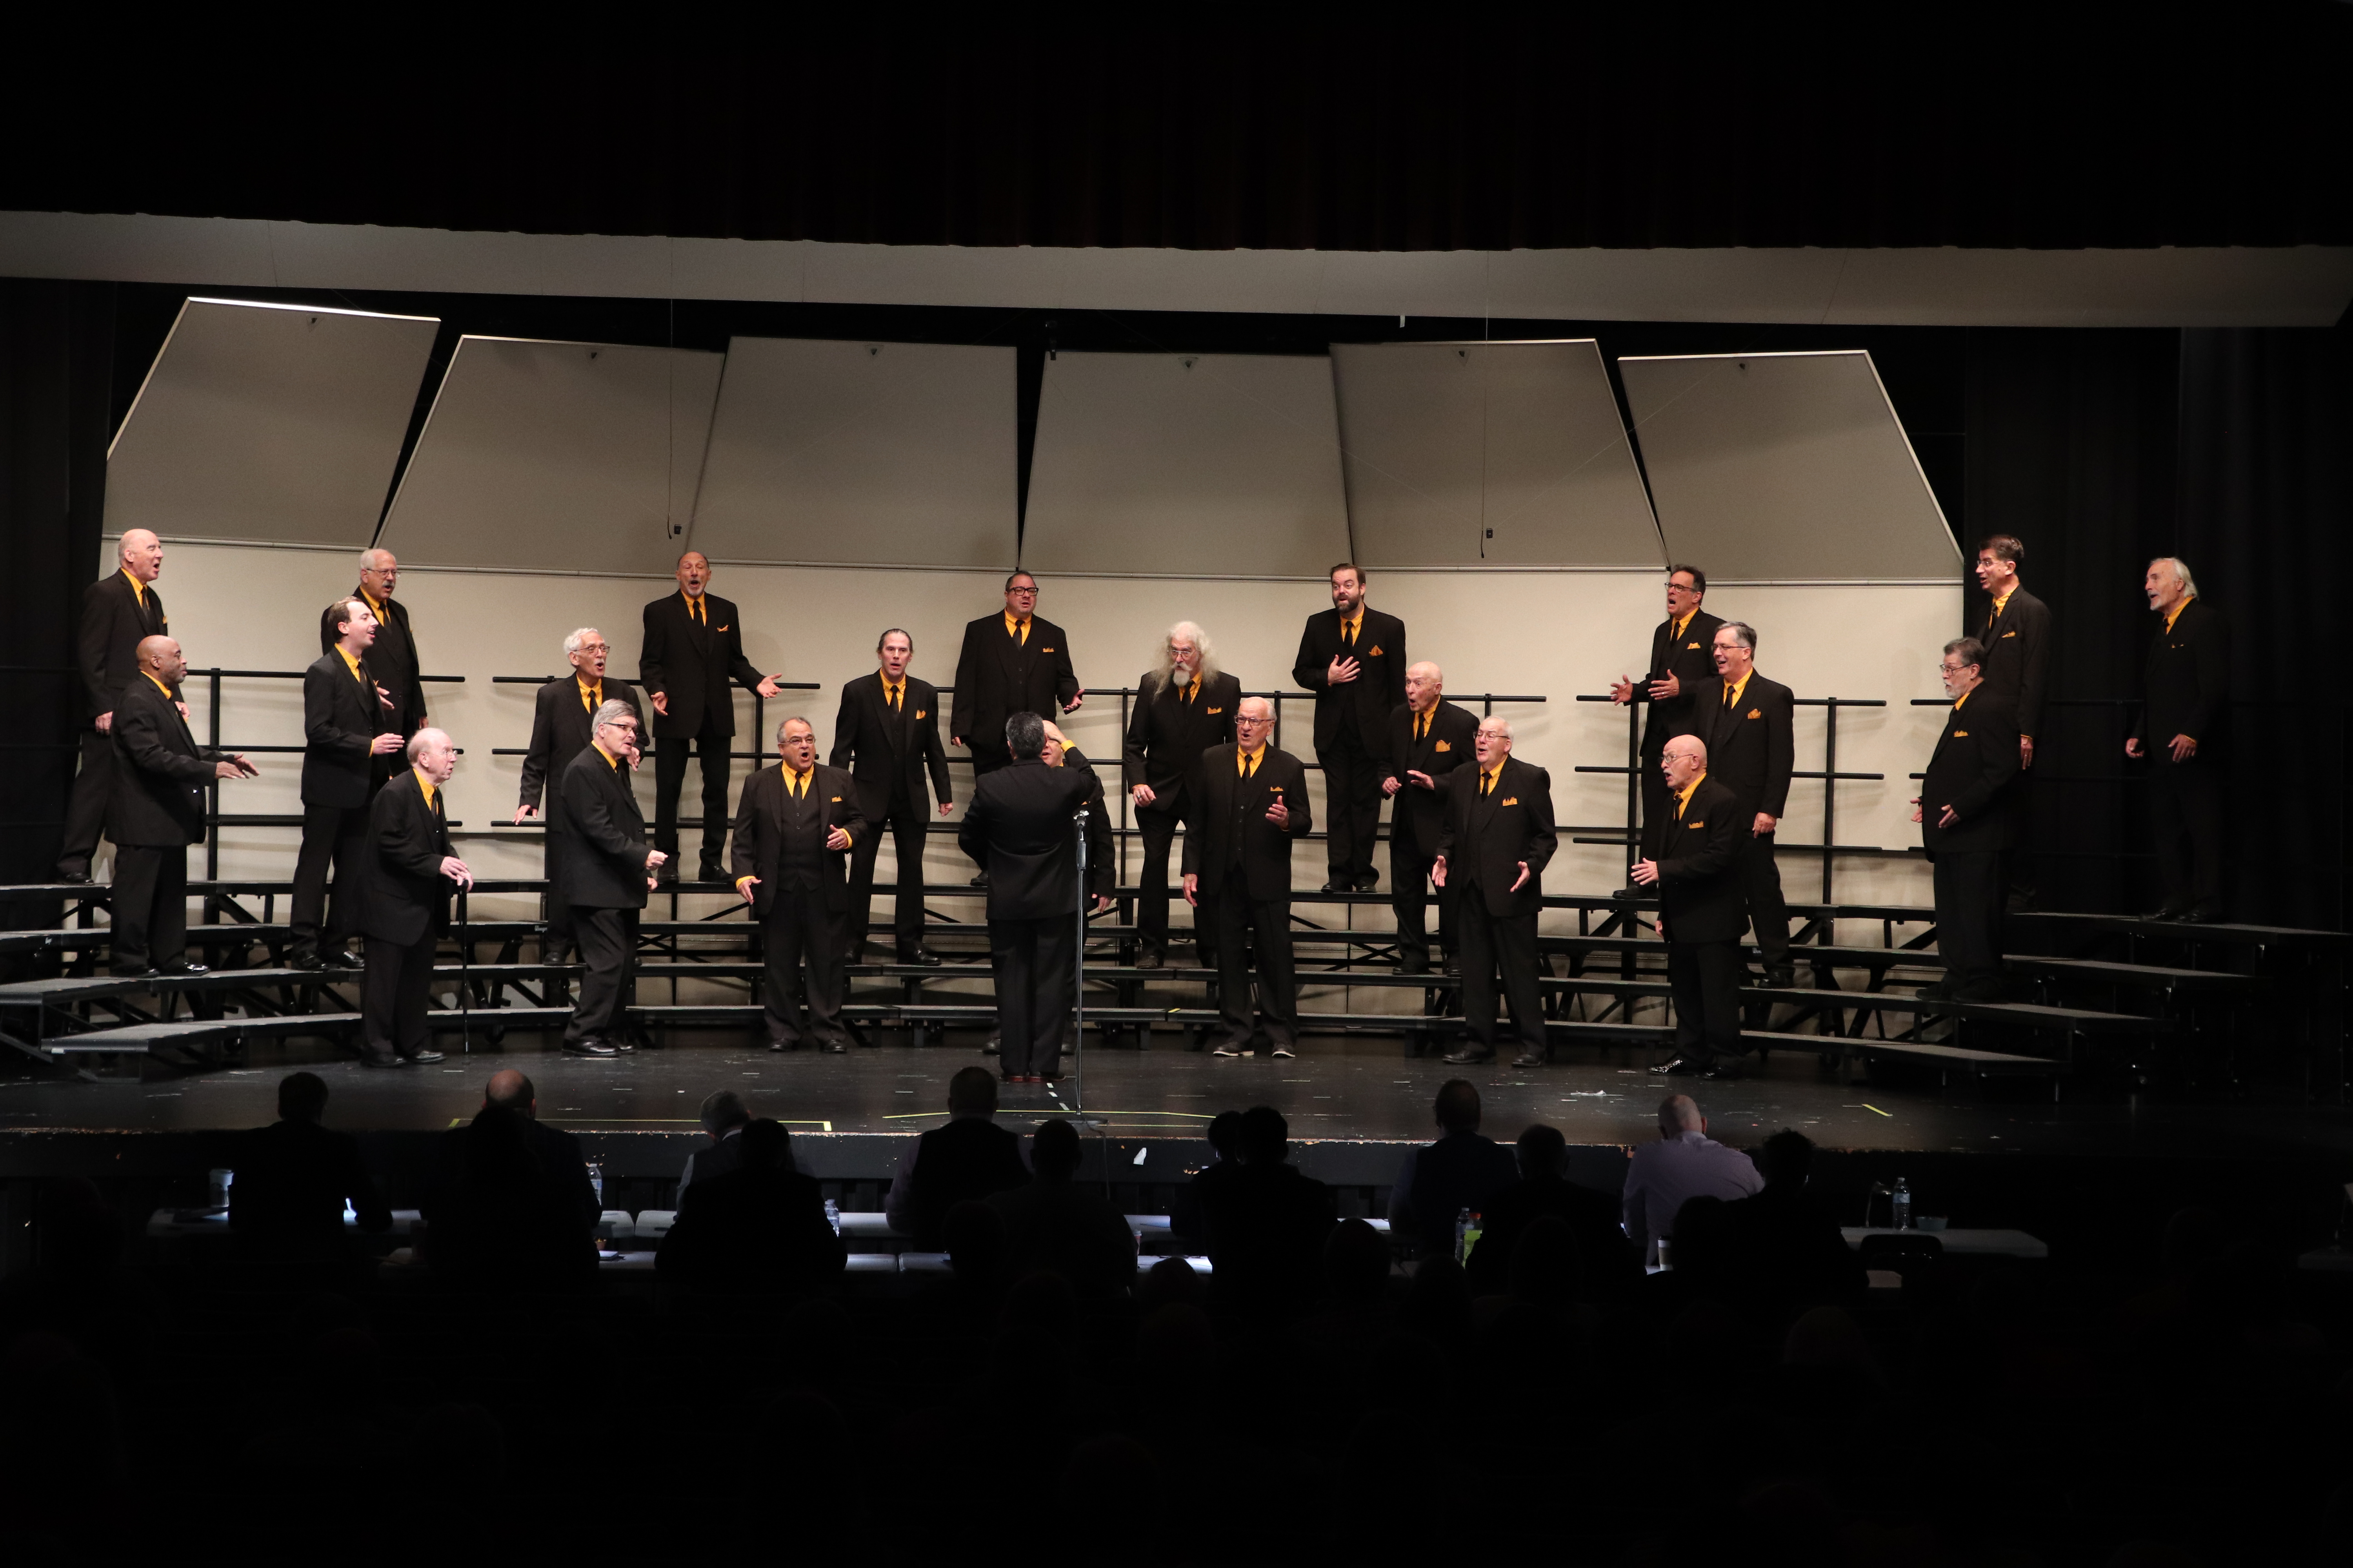
<path fill-rule="evenodd" d="M 106 531 L 365 548 L 438 329 L 186 301 L 108 451 Z"/>

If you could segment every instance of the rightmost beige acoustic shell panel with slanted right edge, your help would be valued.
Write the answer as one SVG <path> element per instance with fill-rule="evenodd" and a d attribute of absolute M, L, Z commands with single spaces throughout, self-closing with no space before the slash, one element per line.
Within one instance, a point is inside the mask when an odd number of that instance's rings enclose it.
<path fill-rule="evenodd" d="M 1868 353 L 1619 360 L 1619 378 L 1671 559 L 1751 583 L 1960 571 Z"/>

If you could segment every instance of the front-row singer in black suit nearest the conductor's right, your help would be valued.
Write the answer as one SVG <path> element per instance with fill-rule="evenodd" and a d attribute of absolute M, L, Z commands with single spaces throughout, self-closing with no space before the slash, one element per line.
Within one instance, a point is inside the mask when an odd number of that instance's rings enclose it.
<path fill-rule="evenodd" d="M 1186 795 L 1193 820 L 1184 835 L 1184 900 L 1217 931 L 1217 1009 L 1226 1037 L 1214 1056 L 1249 1056 L 1266 1034 L 1273 1056 L 1299 1046 L 1299 976 L 1292 969 L 1292 842 L 1315 820 L 1308 771 L 1268 745 L 1275 705 L 1245 696 L 1233 715 L 1233 745 L 1212 745 L 1193 762 Z M 1257 957 L 1259 1009 L 1249 1009 L 1249 957 Z"/>

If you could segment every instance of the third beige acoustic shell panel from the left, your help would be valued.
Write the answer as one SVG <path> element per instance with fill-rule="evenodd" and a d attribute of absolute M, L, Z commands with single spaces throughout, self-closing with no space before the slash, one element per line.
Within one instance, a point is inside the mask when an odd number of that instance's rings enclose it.
<path fill-rule="evenodd" d="M 729 562 L 1009 567 L 1014 350 L 734 339 L 694 548 Z"/>

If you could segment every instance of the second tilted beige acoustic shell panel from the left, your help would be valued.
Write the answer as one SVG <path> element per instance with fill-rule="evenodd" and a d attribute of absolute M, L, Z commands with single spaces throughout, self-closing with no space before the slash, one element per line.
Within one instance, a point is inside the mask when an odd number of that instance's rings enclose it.
<path fill-rule="evenodd" d="M 431 567 L 666 574 L 718 386 L 713 353 L 459 339 L 381 543 Z"/>

